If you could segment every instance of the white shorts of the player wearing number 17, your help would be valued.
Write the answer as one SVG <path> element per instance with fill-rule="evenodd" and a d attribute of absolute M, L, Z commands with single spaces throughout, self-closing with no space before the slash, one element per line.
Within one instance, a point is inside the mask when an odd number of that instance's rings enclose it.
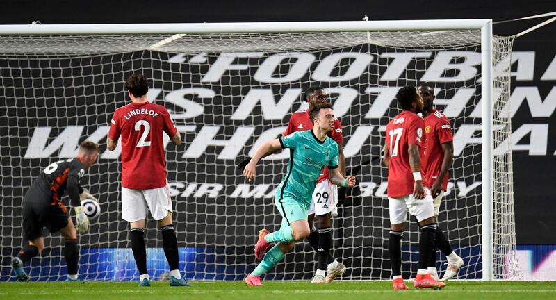
<path fill-rule="evenodd" d="M 407 213 L 414 215 L 418 222 L 434 216 L 433 199 L 430 190 L 425 188 L 424 199 L 414 199 L 412 194 L 403 197 L 388 197 L 390 224 L 407 221 Z"/>

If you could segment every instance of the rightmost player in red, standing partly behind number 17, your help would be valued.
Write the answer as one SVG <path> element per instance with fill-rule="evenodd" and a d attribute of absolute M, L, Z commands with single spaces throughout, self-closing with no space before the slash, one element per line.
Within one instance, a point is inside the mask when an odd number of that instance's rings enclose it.
<path fill-rule="evenodd" d="M 425 187 L 430 188 L 434 198 L 434 217 L 437 219 L 442 197 L 448 187 L 448 169 L 454 158 L 454 143 L 452 142 L 454 134 L 448 117 L 434 108 L 434 88 L 423 84 L 419 86 L 418 92 L 423 97 L 423 118 L 425 119 L 425 151 L 423 151 L 421 170 L 425 179 Z M 450 242 L 440 227 L 436 228 L 434 244 L 428 267 L 430 274 L 433 278 L 439 278 L 436 271 L 436 249 L 440 249 L 448 259 L 448 267 L 442 281 L 453 278 L 464 265 L 464 260 L 452 250 Z"/>

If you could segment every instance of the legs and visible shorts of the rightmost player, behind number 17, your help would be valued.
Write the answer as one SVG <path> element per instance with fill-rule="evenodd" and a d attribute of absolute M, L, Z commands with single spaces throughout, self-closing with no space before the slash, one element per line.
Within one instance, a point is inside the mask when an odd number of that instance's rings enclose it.
<path fill-rule="evenodd" d="M 439 212 L 440 212 L 440 205 L 442 202 L 442 198 L 444 196 L 444 191 L 441 191 L 440 194 L 434 198 L 434 217 L 436 219 L 438 219 L 439 217 Z M 442 251 L 442 253 L 444 253 L 444 255 L 446 256 L 447 260 L 448 260 L 448 267 L 446 268 L 446 271 L 444 272 L 444 276 L 442 277 L 442 281 L 446 281 L 448 279 L 453 278 L 454 276 L 457 275 L 457 272 L 459 272 L 459 269 L 464 265 L 464 260 L 461 259 L 461 257 L 459 257 L 455 251 L 452 249 L 452 246 L 450 246 L 450 242 L 448 241 L 448 238 L 446 238 L 446 236 L 444 235 L 444 232 L 442 231 L 442 228 L 440 228 L 440 226 L 436 227 L 436 238 L 434 240 L 434 245 L 435 245 L 435 251 L 433 256 L 431 257 L 432 262 L 430 264 L 433 263 L 434 260 L 434 269 L 432 269 L 431 271 L 435 271 L 436 272 L 436 249 L 440 249 L 440 251 Z M 438 275 L 436 275 L 436 277 L 438 277 Z"/>

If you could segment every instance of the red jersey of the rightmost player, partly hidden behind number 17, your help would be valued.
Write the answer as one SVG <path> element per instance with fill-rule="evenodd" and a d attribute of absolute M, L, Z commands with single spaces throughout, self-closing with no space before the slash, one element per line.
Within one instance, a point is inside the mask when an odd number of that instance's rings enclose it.
<path fill-rule="evenodd" d="M 432 113 L 425 117 L 425 151 L 421 156 L 421 173 L 423 173 L 423 183 L 427 188 L 432 187 L 440 174 L 444 159 L 442 144 L 453 140 L 454 134 L 448 117 L 436 109 L 432 110 Z M 448 187 L 449 173 L 442 181 L 443 190 Z"/>

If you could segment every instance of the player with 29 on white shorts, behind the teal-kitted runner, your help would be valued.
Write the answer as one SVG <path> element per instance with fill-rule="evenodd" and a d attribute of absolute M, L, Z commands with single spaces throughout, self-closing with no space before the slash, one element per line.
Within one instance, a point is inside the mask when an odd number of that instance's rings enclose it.
<path fill-rule="evenodd" d="M 299 110 L 293 113 L 288 122 L 288 127 L 284 131 L 284 137 L 295 131 L 306 131 L 313 128 L 313 122 L 309 117 L 309 110 L 318 103 L 327 102 L 325 90 L 318 86 L 311 86 L 304 92 L 304 100 L 309 104 L 306 110 Z M 340 120 L 334 118 L 334 129 L 328 134 L 338 144 L 338 165 L 340 172 L 345 176 L 345 157 L 343 155 L 342 124 Z M 328 168 L 322 170 L 318 178 L 317 185 L 313 192 L 311 208 L 307 221 L 311 226 L 311 233 L 307 240 L 311 247 L 317 252 L 318 263 L 317 271 L 311 283 L 329 283 L 345 272 L 345 265 L 338 262 L 330 254 L 332 246 L 332 212 L 338 203 L 338 188 L 330 180 Z M 313 219 L 317 216 L 318 231 L 314 227 Z"/>

